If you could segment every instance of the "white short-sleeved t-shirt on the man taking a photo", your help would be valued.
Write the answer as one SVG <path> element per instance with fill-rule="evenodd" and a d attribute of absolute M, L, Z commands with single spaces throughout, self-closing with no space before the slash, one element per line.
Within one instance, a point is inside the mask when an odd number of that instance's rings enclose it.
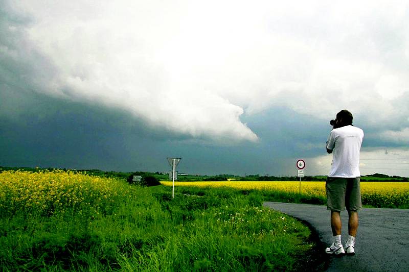
<path fill-rule="evenodd" d="M 328 137 L 327 149 L 331 149 L 332 167 L 328 177 L 356 178 L 359 172 L 359 150 L 363 131 L 354 126 L 333 129 Z"/>

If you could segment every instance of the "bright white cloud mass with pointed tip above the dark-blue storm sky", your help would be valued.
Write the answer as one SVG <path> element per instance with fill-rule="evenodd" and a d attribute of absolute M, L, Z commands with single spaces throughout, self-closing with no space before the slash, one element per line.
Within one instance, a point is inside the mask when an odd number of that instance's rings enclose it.
<path fill-rule="evenodd" d="M 38 90 L 152 126 L 257 141 L 240 116 L 277 105 L 325 118 L 343 108 L 409 115 L 395 103 L 409 86 L 405 3 L 40 3 L 15 4 L 32 17 L 27 42 L 54 67 Z"/>

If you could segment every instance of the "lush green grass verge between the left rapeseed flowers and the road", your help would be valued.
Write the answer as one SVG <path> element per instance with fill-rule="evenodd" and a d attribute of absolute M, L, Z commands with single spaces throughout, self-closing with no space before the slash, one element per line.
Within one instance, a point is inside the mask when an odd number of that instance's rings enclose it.
<path fill-rule="evenodd" d="M 310 230 L 263 208 L 259 192 L 178 187 L 172 199 L 171 187 L 129 188 L 128 197 L 105 213 L 72 208 L 50 216 L 20 210 L 1 217 L 0 270 L 323 268 Z"/>

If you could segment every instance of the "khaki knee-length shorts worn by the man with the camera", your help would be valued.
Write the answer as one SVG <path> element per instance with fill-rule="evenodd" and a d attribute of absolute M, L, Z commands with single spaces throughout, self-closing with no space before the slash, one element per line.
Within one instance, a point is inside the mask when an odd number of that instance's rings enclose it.
<path fill-rule="evenodd" d="M 327 210 L 348 211 L 362 210 L 360 178 L 328 177 L 325 184 L 327 191 Z"/>

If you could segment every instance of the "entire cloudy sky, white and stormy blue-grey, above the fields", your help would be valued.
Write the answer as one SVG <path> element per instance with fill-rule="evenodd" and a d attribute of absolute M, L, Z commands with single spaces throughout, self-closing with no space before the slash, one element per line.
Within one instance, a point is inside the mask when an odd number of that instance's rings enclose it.
<path fill-rule="evenodd" d="M 366 132 L 362 154 L 407 158 L 405 2 L 0 9 L 2 164 L 154 170 L 176 153 L 186 171 L 285 175 L 303 157 L 318 174 L 328 120 L 342 109 Z"/>

